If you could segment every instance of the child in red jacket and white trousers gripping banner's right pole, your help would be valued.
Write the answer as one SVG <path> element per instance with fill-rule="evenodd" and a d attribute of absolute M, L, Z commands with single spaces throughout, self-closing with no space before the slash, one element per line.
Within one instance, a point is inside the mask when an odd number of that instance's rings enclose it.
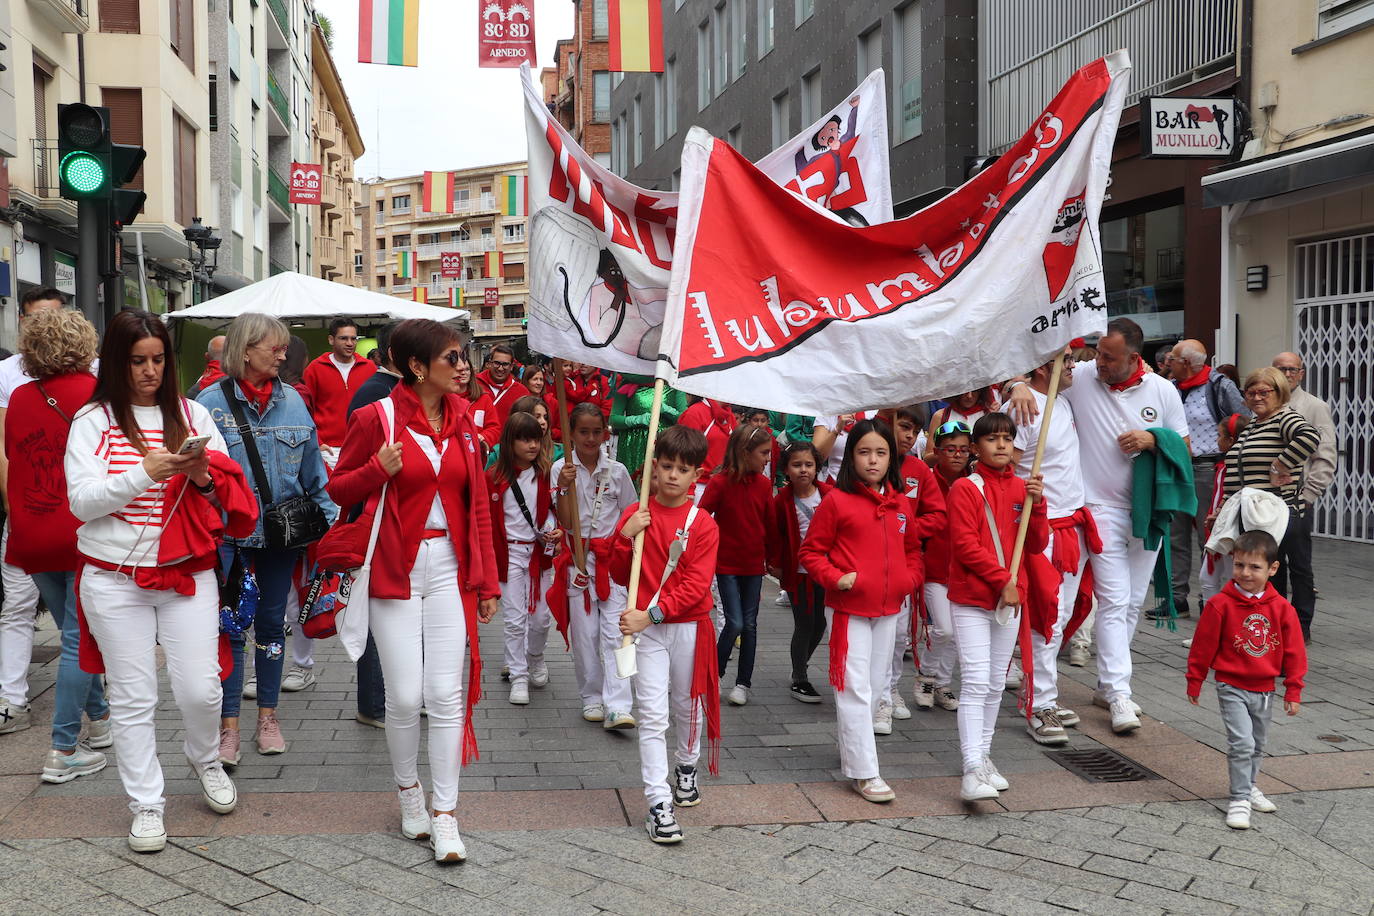
<path fill-rule="evenodd" d="M 1044 483 L 1039 474 L 1029 481 L 1015 475 L 1015 435 L 1006 413 L 980 417 L 973 426 L 978 461 L 949 488 L 949 612 L 959 647 L 960 797 L 966 802 L 996 798 L 1010 788 L 988 754 L 1026 597 L 1025 558 L 1050 545 Z M 1035 508 L 1013 585 L 1009 564 L 1028 499 Z"/>

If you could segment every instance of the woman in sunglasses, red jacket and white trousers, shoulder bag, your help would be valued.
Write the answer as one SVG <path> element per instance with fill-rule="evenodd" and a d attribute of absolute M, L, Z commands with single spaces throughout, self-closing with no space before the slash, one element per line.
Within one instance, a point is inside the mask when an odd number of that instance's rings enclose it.
<path fill-rule="evenodd" d="M 453 809 L 459 768 L 477 757 L 477 621 L 496 614 L 500 595 L 486 481 L 462 398 L 466 361 L 458 332 L 427 319 L 403 321 L 392 334 L 392 360 L 401 374 L 390 397 L 394 420 L 387 423 L 385 404 L 353 415 L 328 493 L 341 507 L 367 505 L 354 522 L 360 527 L 370 529 L 374 512 L 383 512 L 370 625 L 386 678 L 386 746 L 401 832 L 429 838 L 436 861 L 462 861 L 467 850 Z M 422 705 L 429 710 L 433 818 L 416 772 Z"/>

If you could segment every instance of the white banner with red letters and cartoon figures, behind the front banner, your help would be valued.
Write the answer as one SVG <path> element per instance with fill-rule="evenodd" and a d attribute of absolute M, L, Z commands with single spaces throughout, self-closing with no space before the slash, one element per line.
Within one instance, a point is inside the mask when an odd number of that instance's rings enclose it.
<path fill-rule="evenodd" d="M 653 375 L 668 301 L 677 194 L 602 168 L 525 85 L 529 146 L 529 341 L 540 353 Z M 892 220 L 882 70 L 758 168 L 823 220 Z M 741 218 L 746 218 L 742 216 Z"/>

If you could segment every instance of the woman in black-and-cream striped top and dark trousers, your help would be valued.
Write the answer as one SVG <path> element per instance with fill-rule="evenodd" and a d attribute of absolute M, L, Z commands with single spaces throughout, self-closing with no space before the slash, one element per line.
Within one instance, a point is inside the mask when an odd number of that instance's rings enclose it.
<path fill-rule="evenodd" d="M 1279 542 L 1281 567 L 1312 556 L 1312 531 L 1307 522 L 1307 503 L 1303 499 L 1303 467 L 1322 439 L 1315 426 L 1289 405 L 1292 389 L 1287 378 L 1267 365 L 1245 376 L 1245 405 L 1254 419 L 1241 431 L 1235 445 L 1226 453 L 1226 496 L 1253 486 L 1279 496 L 1289 507 L 1289 525 Z M 1210 519 L 1208 519 L 1210 525 Z M 1283 581 L 1276 578 L 1275 584 Z M 1312 614 L 1316 593 L 1311 580 L 1293 577 L 1293 593 L 1279 593 L 1293 602 L 1303 636 L 1312 639 Z"/>

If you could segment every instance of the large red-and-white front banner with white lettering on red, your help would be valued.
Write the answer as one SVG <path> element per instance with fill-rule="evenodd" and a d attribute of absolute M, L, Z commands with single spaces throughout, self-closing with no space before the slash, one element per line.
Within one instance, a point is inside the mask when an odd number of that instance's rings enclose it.
<path fill-rule="evenodd" d="M 1098 216 L 1129 70 L 1125 51 L 1083 67 L 992 166 L 885 225 L 818 216 L 694 128 L 661 378 L 820 416 L 970 391 L 1102 331 Z"/>

